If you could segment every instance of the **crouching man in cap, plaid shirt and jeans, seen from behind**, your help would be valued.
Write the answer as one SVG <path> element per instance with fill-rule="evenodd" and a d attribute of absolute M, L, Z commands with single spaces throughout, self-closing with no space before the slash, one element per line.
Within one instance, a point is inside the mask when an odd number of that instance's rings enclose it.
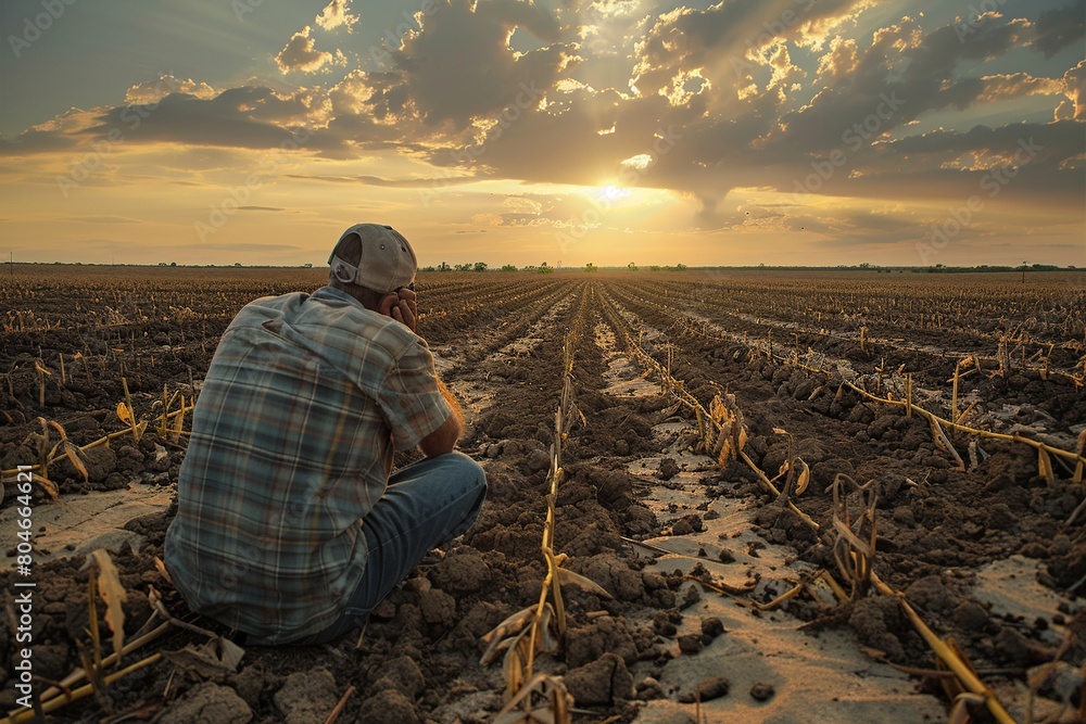
<path fill-rule="evenodd" d="M 327 287 L 258 299 L 223 334 L 166 532 L 189 607 L 249 644 L 346 633 L 485 495 L 415 334 L 411 244 L 358 224 L 328 261 Z M 426 458 L 392 473 L 395 449 L 416 445 Z"/>

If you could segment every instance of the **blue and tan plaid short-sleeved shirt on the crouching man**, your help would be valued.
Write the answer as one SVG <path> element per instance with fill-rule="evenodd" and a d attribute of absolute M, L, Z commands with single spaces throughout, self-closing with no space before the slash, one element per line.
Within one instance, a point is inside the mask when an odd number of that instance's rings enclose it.
<path fill-rule="evenodd" d="M 193 611 L 282 644 L 330 625 L 366 566 L 395 448 L 450 416 L 426 342 L 324 287 L 247 305 L 200 392 L 166 533 Z"/>

